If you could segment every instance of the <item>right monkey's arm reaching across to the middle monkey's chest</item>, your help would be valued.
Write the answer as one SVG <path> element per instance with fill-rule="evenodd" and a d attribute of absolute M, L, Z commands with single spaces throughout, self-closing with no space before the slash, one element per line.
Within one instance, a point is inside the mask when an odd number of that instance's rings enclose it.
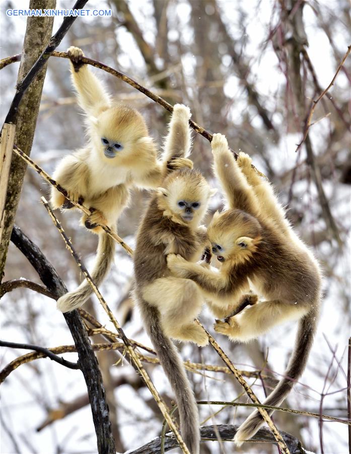
<path fill-rule="evenodd" d="M 211 269 L 202 267 L 198 263 L 191 263 L 181 255 L 169 254 L 167 266 L 175 276 L 191 279 L 197 283 L 207 296 L 219 304 L 233 304 L 243 293 L 247 279 L 228 279 L 228 276 Z"/>

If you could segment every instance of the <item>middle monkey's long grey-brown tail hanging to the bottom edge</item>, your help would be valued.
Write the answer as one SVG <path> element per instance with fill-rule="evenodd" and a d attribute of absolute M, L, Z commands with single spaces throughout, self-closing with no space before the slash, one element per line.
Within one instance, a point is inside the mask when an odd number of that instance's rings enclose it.
<path fill-rule="evenodd" d="M 136 299 L 141 300 L 139 297 Z M 198 411 L 184 365 L 172 341 L 161 330 L 158 309 L 145 300 L 139 306 L 147 332 L 176 396 L 181 436 L 191 454 L 198 454 L 200 449 Z"/>

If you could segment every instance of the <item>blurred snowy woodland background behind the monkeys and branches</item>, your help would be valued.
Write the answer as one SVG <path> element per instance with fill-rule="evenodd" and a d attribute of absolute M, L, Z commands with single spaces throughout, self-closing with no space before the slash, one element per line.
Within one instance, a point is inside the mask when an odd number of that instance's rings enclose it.
<path fill-rule="evenodd" d="M 68 5 L 69 4 L 69 5 Z M 70 8 L 73 2 L 58 2 Z M 26 8 L 25 2 L 21 4 Z M 25 19 L 6 17 L 17 2 L 1 3 L 1 58 L 20 53 Z M 250 154 L 254 165 L 274 184 L 297 232 L 310 245 L 324 272 L 324 305 L 319 334 L 307 371 L 284 406 L 346 418 L 345 347 L 349 310 L 350 58 L 333 87 L 317 104 L 309 137 L 303 138 L 311 99 L 328 86 L 351 43 L 347 0 L 110 0 L 90 1 L 86 8 L 111 9 L 111 17 L 79 18 L 58 50 L 81 47 L 103 62 L 174 104 L 190 106 L 192 118 L 209 132 L 221 132 L 236 152 Z M 55 19 L 54 30 L 61 19 Z M 1 119 L 14 95 L 18 64 L 1 71 Z M 102 71 L 114 97 L 142 111 L 151 134 L 162 147 L 169 114 L 142 93 Z M 49 174 L 59 159 L 85 141 L 80 110 L 69 77 L 68 62 L 51 58 L 44 84 L 31 157 Z M 319 121 L 320 120 L 320 121 Z M 318 122 L 317 122 L 318 121 Z M 213 186 L 208 142 L 193 134 L 192 158 Z M 103 178 L 103 176 L 102 176 Z M 81 276 L 64 248 L 39 199 L 48 188 L 28 169 L 16 223 L 35 241 L 70 289 Z M 149 194 L 133 191 L 119 220 L 119 235 L 133 246 Z M 211 212 L 221 207 L 217 197 Z M 63 228 L 91 266 L 96 238 L 78 224 L 79 213 L 59 214 Z M 38 281 L 34 270 L 11 245 L 6 279 L 24 276 Z M 109 306 L 127 334 L 150 345 L 129 298 L 132 265 L 117 248 L 115 266 L 102 286 Z M 103 324 L 106 316 L 92 300 L 86 304 Z M 211 328 L 212 318 L 202 321 Z M 1 301 L 2 338 L 45 347 L 72 344 L 52 300 L 18 289 Z M 211 328 L 212 329 L 212 328 Z M 282 373 L 293 347 L 294 324 L 283 325 L 247 345 L 221 346 L 239 368 Z M 93 342 L 102 342 L 99 336 Z M 184 359 L 220 364 L 209 348 L 180 347 Z M 20 352 L 3 352 L 4 367 Z M 73 356 L 74 354 L 70 354 Z M 67 355 L 69 358 L 70 355 Z M 107 389 L 116 449 L 123 452 L 159 435 L 162 419 L 142 381 L 114 352 L 98 355 Z M 148 366 L 167 402 L 169 385 L 158 366 Z M 232 401 L 241 394 L 230 375 L 190 374 L 198 400 Z M 272 380 L 251 380 L 263 398 Z M 2 386 L 2 452 L 94 452 L 94 429 L 79 372 L 48 360 L 21 366 Z M 246 402 L 245 396 L 239 397 Z M 201 421 L 239 423 L 249 410 L 201 406 Z M 55 413 L 56 412 L 56 413 Z M 346 426 L 276 412 L 282 430 L 299 437 L 311 451 L 345 452 Z M 36 432 L 36 430 L 39 430 Z M 246 444 L 243 452 L 271 452 L 276 447 Z M 234 452 L 228 442 L 203 443 L 203 453 Z"/>

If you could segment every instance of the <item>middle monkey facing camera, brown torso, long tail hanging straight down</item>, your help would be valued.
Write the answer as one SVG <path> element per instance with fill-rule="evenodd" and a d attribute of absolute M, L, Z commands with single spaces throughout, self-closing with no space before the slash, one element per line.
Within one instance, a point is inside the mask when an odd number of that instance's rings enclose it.
<path fill-rule="evenodd" d="M 173 116 L 166 153 L 186 156 L 190 147 L 190 110 Z M 204 330 L 194 322 L 203 297 L 196 284 L 172 276 L 166 255 L 173 252 L 199 260 L 208 244 L 199 226 L 209 197 L 214 194 L 200 173 L 180 169 L 170 173 L 149 203 L 139 226 L 134 252 L 134 297 L 160 363 L 176 396 L 181 435 L 192 454 L 199 452 L 198 412 L 190 383 L 170 337 L 208 343 Z"/>

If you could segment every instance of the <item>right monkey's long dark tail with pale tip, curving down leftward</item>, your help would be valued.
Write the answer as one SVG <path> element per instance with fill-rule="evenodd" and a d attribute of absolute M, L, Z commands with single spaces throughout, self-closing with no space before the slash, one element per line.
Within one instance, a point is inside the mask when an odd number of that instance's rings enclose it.
<path fill-rule="evenodd" d="M 273 391 L 269 394 L 267 399 L 263 402 L 266 405 L 278 406 L 280 405 L 295 382 L 301 377 L 305 370 L 307 359 L 313 344 L 314 335 L 318 323 L 318 303 L 312 306 L 312 309 L 299 321 L 299 328 L 296 335 L 295 348 L 290 358 L 287 370 Z M 271 415 L 274 410 L 267 410 Z M 235 434 L 234 441 L 237 446 L 241 446 L 245 440 L 249 440 L 263 424 L 263 418 L 258 410 L 255 410 L 251 415 L 241 424 L 237 433 Z"/>

